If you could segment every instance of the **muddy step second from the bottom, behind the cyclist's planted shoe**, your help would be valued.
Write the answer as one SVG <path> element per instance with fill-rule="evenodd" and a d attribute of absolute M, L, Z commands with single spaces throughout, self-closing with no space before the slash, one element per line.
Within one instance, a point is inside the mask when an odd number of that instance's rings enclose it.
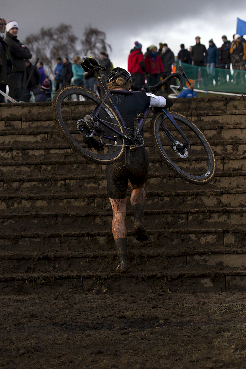
<path fill-rule="evenodd" d="M 182 268 L 198 268 L 209 270 L 246 271 L 245 249 L 224 249 L 197 251 L 161 251 L 141 249 L 128 251 L 129 272 L 174 272 Z M 116 252 L 48 252 L 30 254 L 0 254 L 0 270 L 2 275 L 14 273 L 84 273 L 115 271 Z"/>

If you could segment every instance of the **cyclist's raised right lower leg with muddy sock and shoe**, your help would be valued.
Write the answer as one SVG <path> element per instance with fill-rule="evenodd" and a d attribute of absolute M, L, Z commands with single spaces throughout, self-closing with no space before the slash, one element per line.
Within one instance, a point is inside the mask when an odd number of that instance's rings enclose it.
<path fill-rule="evenodd" d="M 136 239 L 138 241 L 147 241 L 148 234 L 145 226 L 142 223 L 143 206 L 145 203 L 145 190 L 142 187 L 135 188 L 131 184 L 131 204 L 134 212 L 134 229 L 137 234 Z"/>

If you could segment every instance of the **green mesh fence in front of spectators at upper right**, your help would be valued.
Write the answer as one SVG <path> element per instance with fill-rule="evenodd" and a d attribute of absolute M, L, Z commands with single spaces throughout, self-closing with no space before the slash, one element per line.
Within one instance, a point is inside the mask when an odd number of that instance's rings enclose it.
<path fill-rule="evenodd" d="M 195 89 L 246 94 L 246 71 L 198 67 L 181 63 L 188 79 L 195 80 Z M 186 84 L 184 83 L 186 87 Z"/>

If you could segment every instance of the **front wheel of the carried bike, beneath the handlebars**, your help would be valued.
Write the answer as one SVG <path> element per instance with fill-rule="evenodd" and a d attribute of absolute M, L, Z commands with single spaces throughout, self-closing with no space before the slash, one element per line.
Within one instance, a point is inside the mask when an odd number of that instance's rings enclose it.
<path fill-rule="evenodd" d="M 162 112 L 157 113 L 150 130 L 160 157 L 188 182 L 209 182 L 214 176 L 215 158 L 207 139 L 199 128 L 183 115 L 171 112 L 171 116 L 186 135 L 189 145 L 169 118 Z"/>

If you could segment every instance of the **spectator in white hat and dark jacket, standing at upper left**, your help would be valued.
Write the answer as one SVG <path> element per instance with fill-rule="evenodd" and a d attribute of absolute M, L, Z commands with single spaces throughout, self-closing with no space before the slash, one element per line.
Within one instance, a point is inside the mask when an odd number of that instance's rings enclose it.
<path fill-rule="evenodd" d="M 24 59 L 31 59 L 32 54 L 27 46 L 21 44 L 17 39 L 19 30 L 18 23 L 11 21 L 6 24 L 6 37 L 4 41 L 8 45 L 13 66 L 8 75 L 9 96 L 16 101 L 20 100 L 26 82 L 27 68 Z"/>

